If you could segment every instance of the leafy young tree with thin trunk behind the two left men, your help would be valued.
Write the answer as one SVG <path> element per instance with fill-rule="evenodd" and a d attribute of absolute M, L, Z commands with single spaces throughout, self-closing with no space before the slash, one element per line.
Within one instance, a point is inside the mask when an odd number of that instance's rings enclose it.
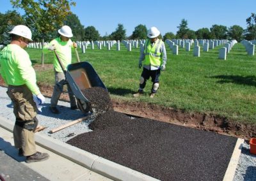
<path fill-rule="evenodd" d="M 76 3 L 68 0 L 10 0 L 13 8 L 21 8 L 25 11 L 26 25 L 33 31 L 33 36 L 38 37 L 44 44 L 47 33 L 56 31 L 63 20 L 70 14 L 70 6 Z M 44 54 L 42 53 L 42 66 L 44 66 Z"/>

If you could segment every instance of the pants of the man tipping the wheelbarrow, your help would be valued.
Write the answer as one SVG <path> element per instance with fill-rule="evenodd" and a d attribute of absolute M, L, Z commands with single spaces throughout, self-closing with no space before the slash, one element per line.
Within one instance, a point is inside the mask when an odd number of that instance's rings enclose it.
<path fill-rule="evenodd" d="M 60 99 L 60 95 L 63 91 L 63 86 L 65 83 L 65 75 L 63 72 L 55 72 L 55 86 L 54 90 L 52 92 L 52 98 L 51 98 L 51 107 L 56 107 L 58 104 L 58 100 Z M 76 98 L 70 88 L 70 86 L 67 84 L 68 88 L 68 96 L 70 99 L 70 106 L 76 106 Z"/>

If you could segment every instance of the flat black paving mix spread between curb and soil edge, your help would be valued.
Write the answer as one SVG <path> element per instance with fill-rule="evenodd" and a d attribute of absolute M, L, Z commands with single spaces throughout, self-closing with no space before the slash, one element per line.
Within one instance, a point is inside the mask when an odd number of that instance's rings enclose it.
<path fill-rule="evenodd" d="M 91 127 L 67 143 L 159 180 L 223 180 L 237 141 L 113 110 Z"/>

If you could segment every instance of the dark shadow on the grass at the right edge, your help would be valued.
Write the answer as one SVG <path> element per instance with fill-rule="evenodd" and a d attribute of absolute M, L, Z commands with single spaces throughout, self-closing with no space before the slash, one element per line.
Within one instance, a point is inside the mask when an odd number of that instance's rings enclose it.
<path fill-rule="evenodd" d="M 240 85 L 250 85 L 256 87 L 256 76 L 240 76 L 240 75 L 216 75 L 209 78 L 219 78 L 218 83 L 236 83 Z"/>

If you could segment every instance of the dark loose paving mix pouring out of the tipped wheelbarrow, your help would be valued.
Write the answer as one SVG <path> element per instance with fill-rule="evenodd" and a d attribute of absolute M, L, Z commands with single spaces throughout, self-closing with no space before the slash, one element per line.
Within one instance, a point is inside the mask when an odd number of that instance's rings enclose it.
<path fill-rule="evenodd" d="M 92 108 L 97 110 L 97 112 L 102 113 L 113 110 L 113 105 L 106 89 L 102 87 L 92 87 L 83 90 L 82 93 L 90 101 Z"/>

